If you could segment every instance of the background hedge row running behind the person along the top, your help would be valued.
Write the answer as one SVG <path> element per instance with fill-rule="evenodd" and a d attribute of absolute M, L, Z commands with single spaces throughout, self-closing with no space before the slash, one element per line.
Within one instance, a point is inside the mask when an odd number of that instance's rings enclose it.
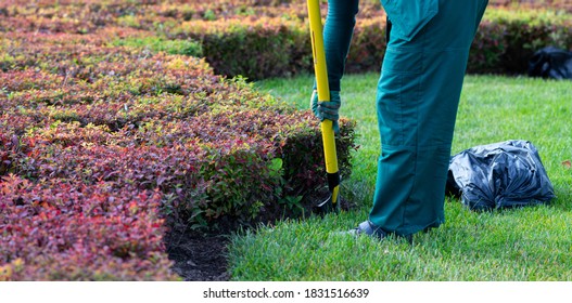
<path fill-rule="evenodd" d="M 105 27 L 134 28 L 151 37 L 119 37 L 114 43 L 204 56 L 216 74 L 251 80 L 313 68 L 303 0 L 107 0 L 84 1 L 85 5 L 48 1 L 38 6 L 18 1 L 0 9 L 4 15 L 0 31 L 89 34 Z M 572 49 L 570 9 L 565 1 L 492 1 L 471 48 L 469 73 L 523 74 L 534 51 L 547 45 Z M 379 70 L 385 48 L 383 15 L 379 1 L 360 2 L 348 71 Z"/>

